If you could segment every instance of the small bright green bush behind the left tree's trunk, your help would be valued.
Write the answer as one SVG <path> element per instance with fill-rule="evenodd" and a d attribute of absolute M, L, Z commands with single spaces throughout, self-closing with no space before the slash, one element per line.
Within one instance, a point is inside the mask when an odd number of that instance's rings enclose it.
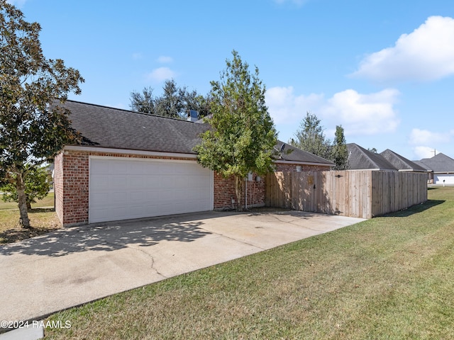
<path fill-rule="evenodd" d="M 0 189 L 3 191 L 4 202 L 18 202 L 16 176 L 16 174 L 11 174 L 11 181 Z M 31 209 L 31 203 L 42 200 L 49 193 L 48 171 L 43 167 L 26 164 L 23 183 L 28 209 Z"/>

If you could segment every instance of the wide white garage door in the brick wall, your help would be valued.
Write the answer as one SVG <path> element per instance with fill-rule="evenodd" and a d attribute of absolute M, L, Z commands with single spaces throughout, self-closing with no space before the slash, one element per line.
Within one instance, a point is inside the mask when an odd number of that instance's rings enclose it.
<path fill-rule="evenodd" d="M 213 171 L 196 162 L 90 159 L 89 222 L 213 210 Z"/>

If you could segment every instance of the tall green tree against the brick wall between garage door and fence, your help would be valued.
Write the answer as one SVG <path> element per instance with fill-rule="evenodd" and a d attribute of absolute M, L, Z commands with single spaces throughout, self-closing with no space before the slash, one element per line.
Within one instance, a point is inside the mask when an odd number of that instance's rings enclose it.
<path fill-rule="evenodd" d="M 237 209 L 242 209 L 243 181 L 250 171 L 265 174 L 272 170 L 276 130 L 265 105 L 265 86 L 258 68 L 249 72 L 233 50 L 226 60 L 220 81 L 211 81 L 211 129 L 201 135 L 194 148 L 202 166 L 235 179 Z"/>

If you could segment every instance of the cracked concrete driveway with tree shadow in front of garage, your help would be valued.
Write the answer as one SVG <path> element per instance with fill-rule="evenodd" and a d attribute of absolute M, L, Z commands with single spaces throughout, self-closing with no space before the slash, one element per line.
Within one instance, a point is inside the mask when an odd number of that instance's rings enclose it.
<path fill-rule="evenodd" d="M 0 320 L 42 319 L 100 297 L 362 221 L 258 211 L 98 223 L 0 246 Z"/>

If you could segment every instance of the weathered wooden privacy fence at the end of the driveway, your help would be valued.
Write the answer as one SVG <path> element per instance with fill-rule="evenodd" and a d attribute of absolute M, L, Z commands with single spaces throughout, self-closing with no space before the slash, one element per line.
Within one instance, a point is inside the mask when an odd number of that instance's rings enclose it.
<path fill-rule="evenodd" d="M 267 174 L 265 205 L 371 218 L 426 202 L 427 175 L 397 171 L 303 171 Z"/>

